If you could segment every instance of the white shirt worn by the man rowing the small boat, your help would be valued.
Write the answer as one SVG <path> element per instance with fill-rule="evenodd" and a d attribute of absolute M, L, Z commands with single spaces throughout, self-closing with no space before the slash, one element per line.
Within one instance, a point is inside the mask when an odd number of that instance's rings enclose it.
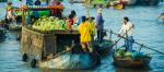
<path fill-rule="evenodd" d="M 122 26 L 119 31 L 119 34 L 121 36 L 126 37 L 126 32 L 127 32 L 128 36 L 132 36 L 133 29 L 134 29 L 133 24 L 131 24 L 130 22 L 127 22 L 127 24 L 122 24 Z"/>

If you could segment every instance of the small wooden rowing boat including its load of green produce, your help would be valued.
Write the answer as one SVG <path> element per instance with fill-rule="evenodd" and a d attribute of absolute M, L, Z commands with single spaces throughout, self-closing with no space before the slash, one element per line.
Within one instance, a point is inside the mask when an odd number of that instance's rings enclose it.
<path fill-rule="evenodd" d="M 116 49 L 113 55 L 114 64 L 125 68 L 142 68 L 149 65 L 152 57 L 149 53 Z"/>

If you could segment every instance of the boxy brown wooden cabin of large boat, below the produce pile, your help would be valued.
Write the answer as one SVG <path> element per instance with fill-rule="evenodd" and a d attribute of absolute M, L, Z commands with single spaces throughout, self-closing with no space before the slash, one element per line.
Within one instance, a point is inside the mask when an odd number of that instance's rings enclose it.
<path fill-rule="evenodd" d="M 70 46 L 72 40 L 79 44 L 79 36 L 78 31 L 40 32 L 23 26 L 20 51 L 35 57 L 56 55 Z"/>

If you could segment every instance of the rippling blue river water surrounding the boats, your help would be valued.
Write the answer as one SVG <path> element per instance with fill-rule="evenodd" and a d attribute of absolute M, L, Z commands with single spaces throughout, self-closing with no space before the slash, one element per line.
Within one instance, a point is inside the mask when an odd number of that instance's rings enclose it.
<path fill-rule="evenodd" d="M 86 15 L 86 9 L 83 4 L 69 4 L 66 12 L 75 10 L 78 15 Z M 0 3 L 0 17 L 4 15 L 4 3 Z M 136 25 L 133 33 L 136 41 L 147 45 L 164 52 L 164 24 L 157 16 L 164 11 L 164 5 L 157 7 L 128 7 L 125 10 L 104 9 L 103 16 L 105 20 L 105 28 L 118 32 L 121 27 L 124 16 L 128 16 Z M 96 16 L 96 9 L 90 9 L 90 14 Z M 22 62 L 22 55 L 19 52 L 20 41 L 16 39 L 16 32 L 8 33 L 4 40 L 0 40 L 0 72 L 65 72 L 60 70 L 32 69 L 28 63 Z M 117 39 L 117 38 L 114 38 Z M 122 41 L 122 40 L 121 40 Z M 122 43 L 119 43 L 122 45 Z M 139 46 L 134 45 L 138 50 Z M 107 56 L 102 60 L 101 65 L 92 70 L 75 70 L 68 72 L 164 72 L 164 55 L 160 55 L 152 50 L 142 48 L 143 52 L 149 52 L 153 57 L 148 69 L 124 69 L 113 65 L 112 56 Z"/>

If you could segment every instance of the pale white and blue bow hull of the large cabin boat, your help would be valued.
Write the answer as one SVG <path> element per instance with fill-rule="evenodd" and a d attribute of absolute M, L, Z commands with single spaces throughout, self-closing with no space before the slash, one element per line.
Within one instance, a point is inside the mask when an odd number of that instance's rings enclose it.
<path fill-rule="evenodd" d="M 48 61 L 40 61 L 39 68 L 58 69 L 58 70 L 79 70 L 91 69 L 97 63 L 95 57 L 89 53 L 65 53 Z"/>

